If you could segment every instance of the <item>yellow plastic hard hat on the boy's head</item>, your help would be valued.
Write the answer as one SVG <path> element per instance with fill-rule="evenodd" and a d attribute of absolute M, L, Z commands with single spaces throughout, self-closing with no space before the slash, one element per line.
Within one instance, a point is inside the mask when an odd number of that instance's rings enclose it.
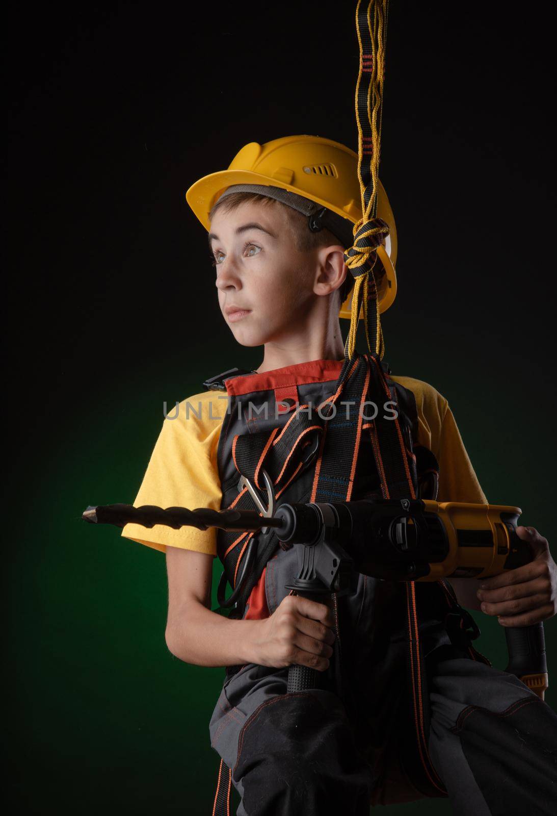
<path fill-rule="evenodd" d="M 236 184 L 281 188 L 303 196 L 340 215 L 349 226 L 362 217 L 358 154 L 320 136 L 285 136 L 265 144 L 250 142 L 232 159 L 228 170 L 210 173 L 192 184 L 186 201 L 207 231 L 214 204 L 227 188 Z M 385 312 L 396 297 L 396 224 L 381 182 L 377 215 L 389 226 L 386 242 L 378 247 L 378 259 L 386 273 L 379 292 L 379 310 Z M 331 231 L 334 232 L 334 228 Z M 349 239 L 345 249 L 351 246 L 350 236 Z M 351 293 L 342 304 L 339 316 L 350 319 Z"/>

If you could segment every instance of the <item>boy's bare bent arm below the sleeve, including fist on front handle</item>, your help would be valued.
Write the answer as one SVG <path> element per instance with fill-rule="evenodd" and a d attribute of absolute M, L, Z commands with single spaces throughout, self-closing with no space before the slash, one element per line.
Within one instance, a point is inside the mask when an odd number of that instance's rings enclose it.
<path fill-rule="evenodd" d="M 197 666 L 291 663 L 325 671 L 333 653 L 329 607 L 286 596 L 270 618 L 231 620 L 210 610 L 213 557 L 166 548 L 168 619 L 166 645 L 175 657 Z"/>

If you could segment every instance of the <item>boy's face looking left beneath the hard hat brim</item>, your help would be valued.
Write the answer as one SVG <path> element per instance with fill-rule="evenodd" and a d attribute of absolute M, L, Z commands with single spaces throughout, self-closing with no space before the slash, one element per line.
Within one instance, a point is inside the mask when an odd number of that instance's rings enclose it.
<path fill-rule="evenodd" d="M 307 323 L 318 293 L 317 254 L 295 249 L 281 205 L 245 202 L 217 211 L 209 237 L 220 309 L 238 343 L 280 343 Z"/>

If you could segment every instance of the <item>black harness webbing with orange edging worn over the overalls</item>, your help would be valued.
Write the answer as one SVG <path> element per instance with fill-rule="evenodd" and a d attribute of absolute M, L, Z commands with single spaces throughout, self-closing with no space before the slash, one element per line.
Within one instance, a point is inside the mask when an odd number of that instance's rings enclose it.
<path fill-rule="evenodd" d="M 313 446 L 307 440 L 320 439 L 319 450 L 315 461 L 315 472 L 312 480 L 311 496 L 308 500 L 315 502 L 348 501 L 354 486 L 356 459 L 363 433 L 369 432 L 374 451 L 375 464 L 381 483 L 384 498 L 415 498 L 418 485 L 416 456 L 413 453 L 412 434 L 407 424 L 401 424 L 398 418 L 386 419 L 387 403 L 394 410 L 399 408 L 394 389 L 389 387 L 385 374 L 386 364 L 378 359 L 377 354 L 357 354 L 351 361 L 344 361 L 343 370 L 338 377 L 334 394 L 320 405 L 320 414 L 325 419 L 310 418 L 303 411 L 290 416 L 282 430 L 273 428 L 271 432 L 249 433 L 238 435 L 232 445 L 234 461 L 238 474 L 250 477 L 259 487 L 263 487 L 260 474 L 263 468 L 281 482 L 276 490 L 276 498 L 285 490 L 285 486 L 294 481 L 303 471 L 313 464 L 313 459 L 303 460 L 304 450 Z M 340 410 L 346 406 L 346 410 Z M 408 416 L 407 413 L 404 413 Z M 314 435 L 312 437 L 312 434 Z M 435 468 L 429 468 L 435 469 Z M 237 477 L 235 477 L 237 479 Z M 242 490 L 230 506 L 253 509 L 254 500 L 247 490 Z M 226 541 L 223 552 L 223 563 L 232 574 L 231 586 L 236 586 L 239 565 L 245 556 L 253 533 L 221 533 L 221 540 Z M 228 540 L 227 540 L 228 537 Z M 251 590 L 259 580 L 263 567 L 276 552 L 279 543 L 272 530 L 260 541 L 259 552 L 254 560 L 253 569 L 242 588 L 240 609 L 250 596 Z M 233 569 L 232 569 L 233 568 Z M 439 582 L 449 607 L 449 613 L 456 604 L 444 582 Z M 425 672 L 420 650 L 418 633 L 418 608 L 416 589 L 413 582 L 405 585 L 407 642 L 408 642 L 408 680 L 411 691 L 414 731 L 417 738 L 418 756 L 422 765 L 425 792 L 429 796 L 444 796 L 443 783 L 431 764 L 427 752 L 427 688 Z M 335 608 L 335 612 L 336 612 Z M 471 650 L 475 657 L 475 650 Z M 338 654 L 338 657 L 340 655 Z M 228 667 L 227 673 L 234 673 L 239 667 Z M 221 763 L 219 787 L 215 805 L 223 796 L 223 786 L 230 785 L 230 769 Z M 228 796 L 224 797 L 228 803 Z M 228 806 L 228 805 L 227 805 Z M 214 810 L 214 814 L 226 813 L 226 810 Z"/>

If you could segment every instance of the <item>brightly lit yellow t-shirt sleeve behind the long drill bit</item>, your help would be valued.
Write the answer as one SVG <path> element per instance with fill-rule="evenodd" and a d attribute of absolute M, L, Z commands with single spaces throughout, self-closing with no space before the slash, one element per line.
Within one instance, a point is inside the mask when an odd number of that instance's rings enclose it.
<path fill-rule="evenodd" d="M 187 410 L 199 403 L 201 415 Z M 164 420 L 157 443 L 145 472 L 134 507 L 155 504 L 161 508 L 185 507 L 220 509 L 222 498 L 217 447 L 222 419 L 212 418 L 206 395 L 190 397 L 179 403 L 178 415 L 171 419 L 171 412 Z M 218 411 L 217 411 L 218 414 Z M 220 421 L 219 421 L 220 420 Z M 217 530 L 197 530 L 195 527 L 172 527 L 155 525 L 152 528 L 139 524 L 126 524 L 122 536 L 146 544 L 161 552 L 166 547 L 179 547 L 216 556 Z"/>

